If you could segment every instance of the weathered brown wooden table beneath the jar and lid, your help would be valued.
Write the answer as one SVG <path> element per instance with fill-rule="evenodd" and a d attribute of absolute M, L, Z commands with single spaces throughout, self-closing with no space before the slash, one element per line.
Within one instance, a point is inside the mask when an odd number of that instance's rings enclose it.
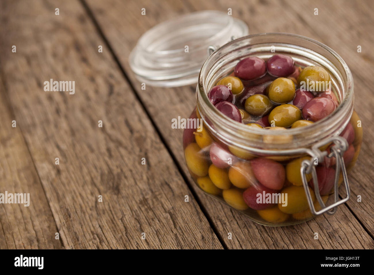
<path fill-rule="evenodd" d="M 152 26 L 228 8 L 251 34 L 311 37 L 352 70 L 364 141 L 352 199 L 334 216 L 264 227 L 205 195 L 184 164 L 183 130 L 171 128 L 194 108 L 196 86 L 142 90 L 129 68 Z M 373 248 L 372 10 L 370 0 L 1 1 L 0 193 L 31 203 L 0 205 L 0 248 Z M 49 79 L 74 80 L 75 94 L 44 91 Z"/>

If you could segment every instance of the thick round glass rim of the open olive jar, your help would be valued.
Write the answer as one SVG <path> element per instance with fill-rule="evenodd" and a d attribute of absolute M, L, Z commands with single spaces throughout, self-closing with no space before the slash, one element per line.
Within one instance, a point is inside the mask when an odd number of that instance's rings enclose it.
<path fill-rule="evenodd" d="M 328 52 L 331 56 L 333 56 L 343 67 L 343 70 L 340 70 L 340 74 L 342 78 L 345 80 L 344 85 L 341 87 L 341 102 L 339 106 L 335 109 L 335 111 L 330 114 L 329 116 L 325 117 L 324 119 L 319 120 L 316 123 L 313 123 L 309 126 L 304 127 L 298 127 L 298 128 L 290 128 L 285 130 L 279 130 L 279 131 L 268 131 L 267 129 L 261 129 L 261 128 L 251 128 L 246 127 L 245 124 L 236 122 L 229 117 L 222 114 L 217 108 L 214 107 L 214 105 L 211 103 L 211 101 L 208 98 L 208 95 L 206 93 L 206 79 L 205 79 L 205 73 L 207 70 L 209 70 L 209 65 L 212 63 L 217 65 L 217 63 L 221 60 L 220 55 L 222 58 L 222 52 L 227 51 L 230 47 L 233 48 L 233 45 L 245 42 L 248 40 L 250 42 L 251 39 L 256 38 L 267 38 L 269 37 L 269 41 L 267 43 L 272 43 L 271 38 L 284 38 L 285 40 L 291 39 L 291 40 L 299 40 L 300 42 L 307 42 L 311 45 L 317 46 L 318 48 Z M 261 43 L 260 43 L 261 44 Z M 294 44 L 288 44 L 287 42 L 282 42 L 284 45 L 289 46 L 295 46 Z M 251 45 L 251 43 L 249 43 Z M 305 48 L 305 47 L 301 47 Z M 310 50 L 311 52 L 317 54 L 317 52 Z M 321 54 L 319 54 L 321 55 Z M 322 56 L 322 55 L 321 55 Z M 217 59 L 217 60 L 215 60 Z M 331 62 L 330 59 L 327 59 L 329 62 Z M 338 70 L 336 67 L 334 67 L 336 70 Z M 344 97 L 343 97 L 344 95 Z M 208 119 L 210 121 L 215 120 L 220 124 L 220 131 L 225 131 L 226 134 L 228 133 L 230 135 L 229 141 L 230 143 L 241 147 L 243 149 L 247 149 L 249 151 L 254 152 L 266 152 L 266 149 L 276 149 L 277 155 L 278 154 L 290 154 L 294 153 L 295 150 L 301 147 L 310 147 L 315 143 L 316 141 L 321 141 L 321 139 L 327 138 L 331 135 L 338 135 L 341 131 L 343 131 L 346 124 L 349 122 L 349 117 L 351 116 L 353 112 L 353 77 L 352 73 L 346 64 L 346 62 L 331 48 L 324 45 L 321 42 L 318 42 L 314 39 L 310 39 L 309 37 L 300 36 L 298 34 L 291 34 L 291 33 L 261 33 L 261 34 L 252 34 L 248 36 L 241 37 L 239 39 L 233 40 L 232 42 L 229 42 L 221 48 L 217 49 L 211 56 L 209 56 L 208 59 L 204 62 L 200 74 L 199 74 L 199 82 L 196 89 L 196 98 L 197 103 L 201 104 L 201 108 L 205 111 L 206 117 L 202 118 L 204 120 Z M 198 108 L 200 107 L 199 104 L 197 104 Z M 200 111 L 200 110 L 199 110 Z M 349 116 L 348 116 L 349 115 Z M 209 123 L 206 123 L 209 126 Z M 329 130 L 325 131 L 325 135 L 322 134 L 322 137 L 316 137 L 316 132 L 320 131 L 321 129 Z M 223 137 L 218 131 L 215 129 L 211 129 L 212 131 L 216 132 L 220 137 Z M 328 134 L 329 133 L 329 134 Z M 303 140 L 298 140 L 295 142 L 295 140 L 292 140 L 289 143 L 285 144 L 271 144 L 267 143 L 264 144 L 262 141 L 248 141 L 248 135 L 267 135 L 272 137 L 279 137 L 284 135 L 292 135 L 297 136 L 300 134 L 303 134 L 304 136 L 307 136 L 307 138 L 303 138 Z M 247 137 L 247 138 L 246 138 Z M 252 150 L 254 149 L 254 150 Z M 273 151 L 272 151 L 273 152 Z"/>

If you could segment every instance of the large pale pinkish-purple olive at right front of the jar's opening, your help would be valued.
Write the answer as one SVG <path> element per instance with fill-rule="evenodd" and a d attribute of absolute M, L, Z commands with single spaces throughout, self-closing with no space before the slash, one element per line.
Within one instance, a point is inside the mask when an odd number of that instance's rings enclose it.
<path fill-rule="evenodd" d="M 306 120 L 316 122 L 327 117 L 335 111 L 335 109 L 335 103 L 331 99 L 327 97 L 315 97 L 305 104 L 303 108 L 303 117 Z"/>

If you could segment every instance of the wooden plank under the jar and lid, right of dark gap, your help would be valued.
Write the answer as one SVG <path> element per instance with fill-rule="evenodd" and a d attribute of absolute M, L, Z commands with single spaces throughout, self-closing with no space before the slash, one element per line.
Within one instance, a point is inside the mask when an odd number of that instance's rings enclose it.
<path fill-rule="evenodd" d="M 240 17 L 249 25 L 251 33 L 265 31 L 300 32 L 302 26 L 293 22 L 298 13 L 283 9 L 283 3 L 277 1 L 154 1 L 110 0 L 104 3 L 98 0 L 86 1 L 89 9 L 98 21 L 115 55 L 138 93 L 143 104 L 152 114 L 154 123 L 163 134 L 171 152 L 188 176 L 182 150 L 182 130 L 170 128 L 174 117 L 188 117 L 195 106 L 196 86 L 180 88 L 152 88 L 141 90 L 141 84 L 135 79 L 128 65 L 128 56 L 136 45 L 137 39 L 153 25 L 177 15 L 195 10 L 218 9 L 227 11 L 231 7 L 233 15 Z M 296 4 L 294 2 L 293 4 Z M 145 16 L 140 15 L 141 8 L 146 8 Z M 280 15 L 279 11 L 284 11 Z M 303 10 L 299 11 L 303 12 Z M 124 16 L 126 15 L 126 16 Z M 266 15 L 266 16 L 264 16 Z M 276 22 L 275 22 L 276 20 Z M 126 26 L 126 30 L 124 29 Z M 307 33 L 304 33 L 307 35 Z M 339 208 L 334 216 L 320 216 L 297 226 L 263 227 L 230 210 L 220 202 L 203 194 L 191 184 L 199 194 L 207 213 L 217 227 L 221 238 L 229 248 L 372 248 L 373 239 L 361 226 L 346 206 Z M 363 206 L 364 207 L 364 206 Z M 233 239 L 227 239 L 227 233 L 233 233 Z M 323 236 L 318 241 L 313 233 Z"/>

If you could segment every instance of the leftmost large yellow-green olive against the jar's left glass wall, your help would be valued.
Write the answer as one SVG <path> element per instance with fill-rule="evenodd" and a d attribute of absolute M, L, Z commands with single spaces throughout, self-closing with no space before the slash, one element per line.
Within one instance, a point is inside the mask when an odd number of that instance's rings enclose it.
<path fill-rule="evenodd" d="M 208 175 L 209 164 L 200 150 L 200 147 L 196 143 L 190 143 L 186 149 L 184 149 L 184 158 L 186 158 L 188 169 L 190 169 L 193 174 L 198 177 L 204 177 Z"/>

